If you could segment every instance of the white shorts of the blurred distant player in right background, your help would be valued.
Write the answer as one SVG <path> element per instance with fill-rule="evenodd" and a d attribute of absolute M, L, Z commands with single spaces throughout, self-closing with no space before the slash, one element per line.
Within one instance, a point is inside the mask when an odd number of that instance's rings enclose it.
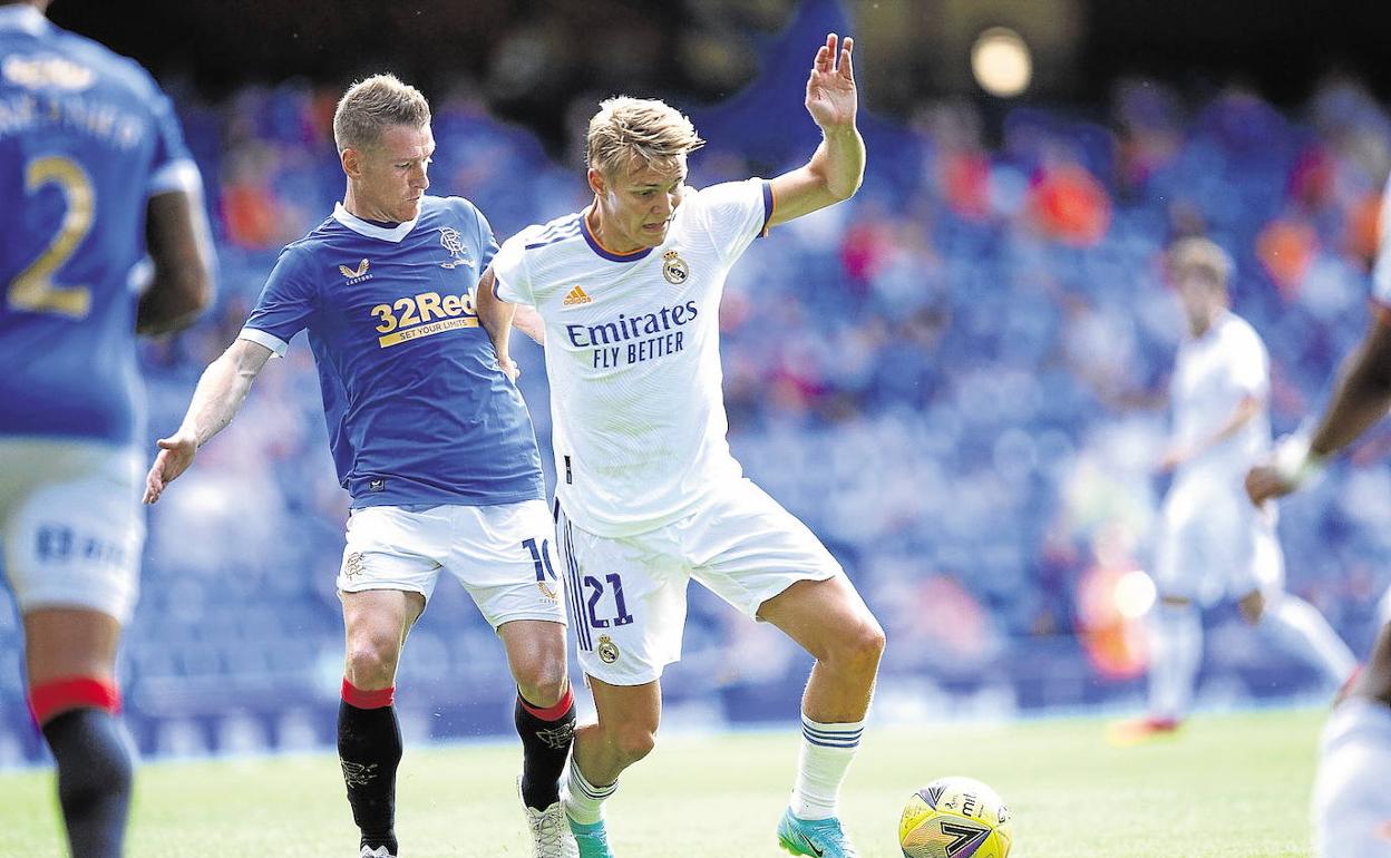
<path fill-rule="evenodd" d="M 1160 595 L 1210 605 L 1255 591 L 1269 598 L 1284 583 L 1285 559 L 1273 505 L 1256 509 L 1239 477 L 1175 480 L 1164 498 L 1155 545 L 1155 585 Z"/>

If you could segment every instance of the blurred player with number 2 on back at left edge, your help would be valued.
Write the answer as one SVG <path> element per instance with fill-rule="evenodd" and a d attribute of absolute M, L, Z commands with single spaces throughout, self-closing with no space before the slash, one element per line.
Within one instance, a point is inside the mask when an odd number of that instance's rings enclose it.
<path fill-rule="evenodd" d="M 213 252 L 168 99 L 47 6 L 0 3 L 0 547 L 68 844 L 92 858 L 121 854 L 131 797 L 113 716 L 145 544 L 135 335 L 207 305 Z"/>

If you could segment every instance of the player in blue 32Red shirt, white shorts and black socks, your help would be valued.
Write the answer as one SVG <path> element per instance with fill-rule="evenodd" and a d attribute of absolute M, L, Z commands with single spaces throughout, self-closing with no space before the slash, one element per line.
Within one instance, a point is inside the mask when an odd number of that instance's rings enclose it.
<path fill-rule="evenodd" d="M 353 85 L 334 114 L 344 202 L 271 271 L 238 339 L 160 439 L 156 502 L 231 421 L 271 355 L 307 328 L 330 446 L 352 495 L 338 573 L 346 665 L 338 755 L 363 857 L 395 857 L 396 663 L 441 570 L 459 578 L 517 683 L 520 791 L 534 855 L 574 850 L 559 804 L 573 737 L 554 526 L 522 395 L 479 330 L 473 286 L 497 250 L 483 214 L 426 196 L 430 106 L 391 75 Z"/>

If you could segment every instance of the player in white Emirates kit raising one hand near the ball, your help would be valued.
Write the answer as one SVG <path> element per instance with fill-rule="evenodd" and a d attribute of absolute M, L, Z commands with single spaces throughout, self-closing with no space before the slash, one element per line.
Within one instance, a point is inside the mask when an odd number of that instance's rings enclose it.
<path fill-rule="evenodd" d="M 479 317 L 499 356 L 513 305 L 536 307 L 545 325 L 558 542 L 598 709 L 598 723 L 576 730 L 565 800 L 584 858 L 612 854 L 601 805 L 652 750 L 690 578 L 815 656 L 778 836 L 798 855 L 855 854 L 836 802 L 883 631 L 811 531 L 743 478 L 725 441 L 719 363 L 719 300 L 739 256 L 769 227 L 860 186 L 851 39 L 836 43 L 826 38 L 807 82 L 822 142 L 805 165 L 689 188 L 686 156 L 702 143 L 690 121 L 662 102 L 611 99 L 588 129 L 594 203 L 505 242 L 495 296 L 480 285 Z"/>

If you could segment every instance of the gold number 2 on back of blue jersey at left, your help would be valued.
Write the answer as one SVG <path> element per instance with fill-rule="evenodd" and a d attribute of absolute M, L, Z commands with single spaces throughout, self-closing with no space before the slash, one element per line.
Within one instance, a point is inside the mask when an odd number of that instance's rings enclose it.
<path fill-rule="evenodd" d="M 57 185 L 67 200 L 67 211 L 57 234 L 43 249 L 39 259 L 19 271 L 6 291 L 6 302 L 14 310 L 28 313 L 54 313 L 71 318 L 82 318 L 92 309 L 92 289 L 86 286 L 60 286 L 53 282 L 53 273 L 61 268 L 82 239 L 92 231 L 96 217 L 96 193 L 86 171 L 72 159 L 58 154 L 35 159 L 24 171 L 24 186 L 35 193 L 46 185 Z"/>

